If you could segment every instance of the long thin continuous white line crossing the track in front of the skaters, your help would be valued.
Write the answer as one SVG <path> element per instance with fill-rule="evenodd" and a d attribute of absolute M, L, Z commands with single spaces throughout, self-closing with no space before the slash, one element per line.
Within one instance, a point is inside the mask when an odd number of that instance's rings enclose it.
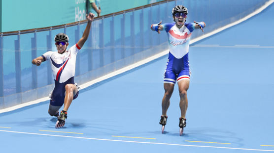
<path fill-rule="evenodd" d="M 127 141 L 127 140 L 114 140 L 114 139 L 100 139 L 100 138 L 88 138 L 88 137 L 66 136 L 66 135 L 55 135 L 55 134 L 42 134 L 42 133 L 20 132 L 20 131 L 10 131 L 10 130 L 0 130 L 0 131 L 10 132 L 10 133 L 21 133 L 21 134 L 43 135 L 43 136 L 56 136 L 56 137 L 67 137 L 67 138 L 89 139 L 89 140 L 130 142 L 130 143 L 141 143 L 141 144 L 157 144 L 157 145 L 171 145 L 171 146 L 184 146 L 184 147 L 203 147 L 203 148 L 218 148 L 218 149 L 274 152 L 274 150 L 262 150 L 262 149 L 231 148 L 231 147 L 217 147 L 217 146 L 198 146 L 198 145 L 182 145 L 182 144 L 171 144 L 171 143 L 160 143 L 160 142 L 141 142 L 141 141 Z"/>

